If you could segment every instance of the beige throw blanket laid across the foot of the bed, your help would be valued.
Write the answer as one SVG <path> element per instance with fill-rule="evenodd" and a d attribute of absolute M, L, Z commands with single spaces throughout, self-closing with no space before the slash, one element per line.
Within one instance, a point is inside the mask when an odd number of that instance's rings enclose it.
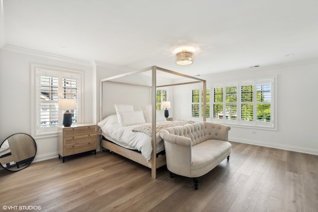
<path fill-rule="evenodd" d="M 174 126 L 181 126 L 181 125 L 187 125 L 192 124 L 194 121 L 184 121 L 184 120 L 177 120 L 177 121 L 171 121 L 171 122 L 157 122 L 156 124 L 156 133 L 158 133 L 160 130 L 168 127 L 174 127 Z M 143 124 L 138 127 L 135 127 L 132 129 L 133 132 L 142 132 L 147 134 L 148 136 L 152 136 L 152 124 Z"/>

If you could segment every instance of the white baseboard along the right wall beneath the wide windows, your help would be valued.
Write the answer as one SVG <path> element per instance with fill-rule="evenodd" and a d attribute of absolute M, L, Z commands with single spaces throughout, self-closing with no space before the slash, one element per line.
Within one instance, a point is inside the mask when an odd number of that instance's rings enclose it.
<path fill-rule="evenodd" d="M 301 147 L 301 146 L 268 143 L 265 141 L 254 141 L 254 140 L 246 140 L 246 139 L 242 140 L 242 139 L 238 139 L 238 138 L 229 138 L 229 141 L 318 155 L 318 149 L 305 148 L 305 147 Z"/>

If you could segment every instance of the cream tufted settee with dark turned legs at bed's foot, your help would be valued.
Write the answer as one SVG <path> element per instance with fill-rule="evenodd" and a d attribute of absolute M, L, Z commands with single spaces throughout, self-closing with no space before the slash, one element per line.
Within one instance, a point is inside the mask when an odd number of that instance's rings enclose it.
<path fill-rule="evenodd" d="M 169 127 L 161 130 L 166 164 L 173 174 L 191 177 L 198 189 L 198 177 L 208 173 L 225 158 L 230 158 L 231 143 L 226 125 L 211 122 Z"/>

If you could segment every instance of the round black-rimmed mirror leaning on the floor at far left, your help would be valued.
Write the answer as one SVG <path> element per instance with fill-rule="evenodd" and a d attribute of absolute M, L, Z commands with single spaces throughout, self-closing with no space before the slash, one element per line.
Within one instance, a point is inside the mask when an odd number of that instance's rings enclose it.
<path fill-rule="evenodd" d="M 0 165 L 10 171 L 19 171 L 30 165 L 35 154 L 34 139 L 27 134 L 17 133 L 1 143 Z"/>

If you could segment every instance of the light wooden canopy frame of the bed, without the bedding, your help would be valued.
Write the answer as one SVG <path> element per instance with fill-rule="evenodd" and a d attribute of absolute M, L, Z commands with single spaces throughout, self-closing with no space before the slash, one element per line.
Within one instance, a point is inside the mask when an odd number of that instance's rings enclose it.
<path fill-rule="evenodd" d="M 146 69 L 138 70 L 138 71 L 131 71 L 128 73 L 123 73 L 115 76 L 111 76 L 108 78 L 104 78 L 100 80 L 100 121 L 105 118 L 103 117 L 103 98 L 107 98 L 106 96 L 103 95 L 103 84 L 104 82 L 111 81 L 111 82 L 118 82 L 115 80 L 118 80 L 121 77 L 125 76 L 130 76 L 133 74 L 145 72 L 145 71 L 151 71 L 151 78 L 152 78 L 152 85 L 151 85 L 151 104 L 152 104 L 152 158 L 147 161 L 147 159 L 140 154 L 139 152 L 133 151 L 131 149 L 124 148 L 122 146 L 119 146 L 115 143 L 103 140 L 101 141 L 101 147 L 104 147 L 108 150 L 111 150 L 117 154 L 120 154 L 124 157 L 127 157 L 135 162 L 138 162 L 142 165 L 145 165 L 152 170 L 152 178 L 156 179 L 156 170 L 157 168 L 163 166 L 166 164 L 165 160 L 165 155 L 156 157 L 156 90 L 159 87 L 167 87 L 167 86 L 175 86 L 175 85 L 184 85 L 184 84 L 191 84 L 191 83 L 203 83 L 203 90 L 206 90 L 206 80 L 204 79 L 199 79 L 197 77 L 189 76 L 183 73 L 175 72 L 175 71 L 170 71 L 167 69 L 163 69 L 160 67 L 152 66 Z M 189 82 L 182 82 L 182 83 L 175 83 L 175 84 L 166 84 L 166 85 L 157 85 L 157 71 L 164 71 L 170 74 L 175 74 L 178 76 L 194 79 L 195 81 L 189 81 Z M 125 84 L 134 84 L 134 83 L 126 83 L 126 82 L 121 82 Z M 140 84 L 134 84 L 134 85 L 140 85 Z M 145 85 L 141 85 L 145 86 Z M 206 93 L 203 92 L 203 121 L 206 121 Z"/>

